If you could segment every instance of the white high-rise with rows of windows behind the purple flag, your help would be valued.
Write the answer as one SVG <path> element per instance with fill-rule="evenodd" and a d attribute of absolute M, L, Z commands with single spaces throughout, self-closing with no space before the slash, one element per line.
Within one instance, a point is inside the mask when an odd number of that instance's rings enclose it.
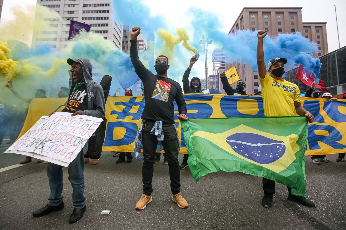
<path fill-rule="evenodd" d="M 51 18 L 49 28 L 42 28 L 33 36 L 33 44 L 49 42 L 54 48 L 65 48 L 69 43 L 70 20 L 91 25 L 90 31 L 122 49 L 122 22 L 112 13 L 109 0 L 37 0 L 37 4 L 59 13 Z"/>

